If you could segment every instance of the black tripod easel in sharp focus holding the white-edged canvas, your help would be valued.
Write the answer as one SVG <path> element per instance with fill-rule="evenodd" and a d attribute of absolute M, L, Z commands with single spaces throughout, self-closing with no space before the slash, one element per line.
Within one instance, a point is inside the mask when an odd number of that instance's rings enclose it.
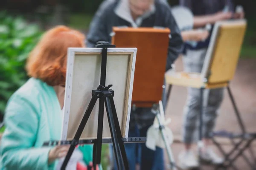
<path fill-rule="evenodd" d="M 96 48 L 102 48 L 102 62 L 101 62 L 101 76 L 100 85 L 96 90 L 92 91 L 92 98 L 84 113 L 81 123 L 76 131 L 74 139 L 71 142 L 63 142 L 63 144 L 70 144 L 70 149 L 68 150 L 67 156 L 61 166 L 61 170 L 65 170 L 70 157 L 78 144 L 82 143 L 93 143 L 93 168 L 96 170 L 96 165 L 101 162 L 101 151 L 102 151 L 102 131 L 103 131 L 103 116 L 104 116 L 104 105 L 106 107 L 108 123 L 111 132 L 111 140 L 107 142 L 113 143 L 114 153 L 116 157 L 116 162 L 119 170 L 128 170 L 128 160 L 125 153 L 124 142 L 145 142 L 145 137 L 139 138 L 122 138 L 122 133 L 120 130 L 118 117 L 116 113 L 116 108 L 113 100 L 114 91 L 111 90 L 112 85 L 106 86 L 106 68 L 107 68 L 107 52 L 108 48 L 115 48 L 116 45 L 110 45 L 108 42 L 98 42 Z M 90 114 L 95 106 L 97 99 L 99 98 L 99 116 L 98 116 L 98 132 L 97 139 L 95 140 L 82 140 L 79 138 L 84 130 L 84 127 L 90 117 Z M 106 140 L 105 140 L 106 141 Z M 53 143 L 53 142 L 52 142 Z M 45 143 L 44 145 L 50 144 Z"/>

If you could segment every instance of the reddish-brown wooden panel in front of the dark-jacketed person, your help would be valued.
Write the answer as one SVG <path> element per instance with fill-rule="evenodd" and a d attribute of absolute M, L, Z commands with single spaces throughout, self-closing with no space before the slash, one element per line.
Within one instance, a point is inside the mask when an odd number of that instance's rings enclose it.
<path fill-rule="evenodd" d="M 152 107 L 162 99 L 169 28 L 113 28 L 112 44 L 138 49 L 132 104 Z"/>

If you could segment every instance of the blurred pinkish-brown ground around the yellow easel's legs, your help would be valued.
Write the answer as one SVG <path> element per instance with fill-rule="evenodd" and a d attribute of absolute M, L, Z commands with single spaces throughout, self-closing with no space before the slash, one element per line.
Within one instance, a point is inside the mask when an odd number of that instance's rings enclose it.
<path fill-rule="evenodd" d="M 182 58 L 177 59 L 175 63 L 176 70 L 183 70 Z M 256 121 L 256 59 L 240 59 L 236 70 L 235 77 L 230 82 L 230 88 L 233 92 L 233 96 L 237 103 L 237 107 L 241 112 L 241 118 L 244 122 L 246 130 L 249 132 L 255 131 Z M 183 150 L 183 146 L 180 143 L 181 139 L 181 128 L 183 121 L 183 106 L 186 102 L 186 88 L 173 86 L 169 103 L 166 108 L 166 117 L 171 118 L 172 122 L 169 127 L 175 136 L 175 143 L 172 144 L 172 150 L 177 160 L 178 153 Z M 217 125 L 215 130 L 228 130 L 231 132 L 241 132 L 239 124 L 236 119 L 233 107 L 230 102 L 230 98 L 227 94 L 227 90 L 224 94 L 224 101 L 221 105 L 220 114 L 218 116 Z M 228 140 L 220 140 L 221 144 L 224 144 L 225 150 L 230 150 L 231 145 Z M 256 145 L 253 144 L 256 149 Z M 215 148 L 215 147 L 214 147 Z M 166 164 L 167 155 L 166 155 Z M 236 161 L 239 170 L 247 170 L 248 166 L 245 164 L 243 159 Z M 168 166 L 167 166 L 168 168 Z M 212 167 L 206 166 L 203 169 L 211 170 Z"/>

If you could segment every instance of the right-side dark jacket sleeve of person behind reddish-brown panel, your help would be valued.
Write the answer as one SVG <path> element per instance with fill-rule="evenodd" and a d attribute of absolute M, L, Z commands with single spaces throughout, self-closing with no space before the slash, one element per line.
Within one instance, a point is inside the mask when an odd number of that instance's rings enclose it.
<path fill-rule="evenodd" d="M 169 40 L 168 57 L 166 69 L 172 68 L 171 65 L 179 57 L 183 50 L 183 40 L 180 34 L 180 29 L 177 26 L 175 18 L 172 15 L 171 8 L 168 6 L 166 10 L 165 23 L 171 30 L 171 38 Z"/>

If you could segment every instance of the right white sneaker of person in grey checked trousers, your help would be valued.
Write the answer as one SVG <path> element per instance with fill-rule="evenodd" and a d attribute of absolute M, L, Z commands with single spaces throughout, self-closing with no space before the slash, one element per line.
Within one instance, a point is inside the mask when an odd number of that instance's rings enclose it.
<path fill-rule="evenodd" d="M 222 164 L 224 159 L 218 156 L 211 148 L 206 148 L 201 153 L 201 161 L 209 162 L 211 164 Z"/>

